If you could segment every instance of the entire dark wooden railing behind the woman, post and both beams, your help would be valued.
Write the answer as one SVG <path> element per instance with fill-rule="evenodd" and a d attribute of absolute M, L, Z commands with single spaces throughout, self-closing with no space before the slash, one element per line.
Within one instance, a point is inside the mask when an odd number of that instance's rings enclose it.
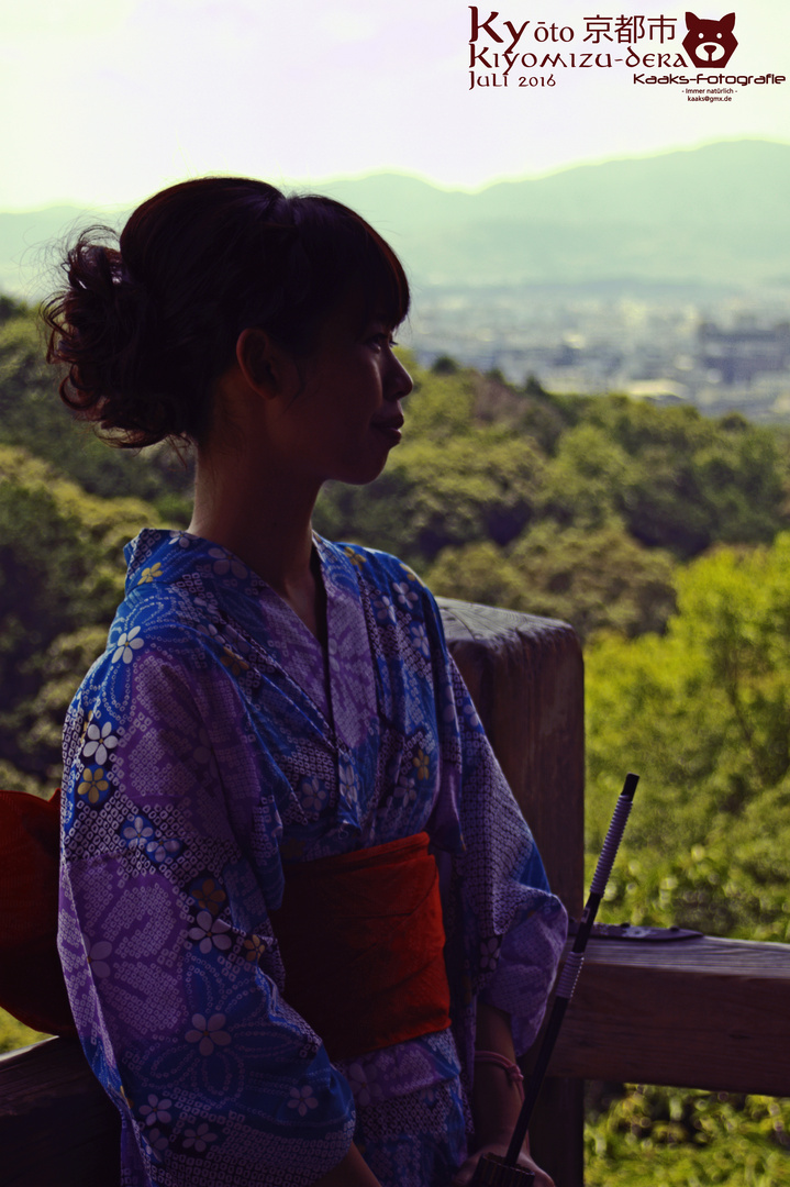
<path fill-rule="evenodd" d="M 569 913 L 582 906 L 584 678 L 565 623 L 441 599 L 451 650 Z M 790 1094 L 790 946 L 592 940 L 533 1121 L 580 1187 L 582 1080 Z M 119 1121 L 76 1042 L 0 1058 L 4 1187 L 116 1187 Z M 261 1185 L 263 1187 L 263 1185 Z"/>

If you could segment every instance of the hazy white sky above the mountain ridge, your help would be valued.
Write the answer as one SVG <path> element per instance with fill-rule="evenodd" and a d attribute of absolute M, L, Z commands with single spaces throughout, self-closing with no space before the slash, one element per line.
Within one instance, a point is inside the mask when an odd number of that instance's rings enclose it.
<path fill-rule="evenodd" d="M 503 0 L 493 27 L 529 18 L 520 49 L 568 56 L 593 49 L 585 17 L 639 8 L 677 18 L 663 50 L 682 52 L 686 2 L 629 2 Z M 719 19 L 730 5 L 694 11 Z M 790 4 L 735 14 L 727 72 L 790 78 Z M 0 210 L 126 205 L 206 172 L 316 183 L 393 169 L 477 188 L 722 138 L 790 140 L 790 81 L 689 102 L 616 63 L 521 69 L 553 74 L 553 88 L 520 88 L 516 66 L 509 88 L 470 90 L 470 21 L 463 0 L 0 0 Z M 541 21 L 573 44 L 530 39 Z"/>

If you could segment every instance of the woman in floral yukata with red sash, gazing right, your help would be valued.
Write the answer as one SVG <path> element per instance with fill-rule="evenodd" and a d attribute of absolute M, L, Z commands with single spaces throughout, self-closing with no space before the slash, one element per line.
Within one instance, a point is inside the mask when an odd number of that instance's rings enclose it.
<path fill-rule="evenodd" d="M 64 737 L 59 948 L 122 1182 L 469 1182 L 565 914 L 433 598 L 312 533 L 400 439 L 401 265 L 329 198 L 204 178 L 66 271 L 63 398 L 197 452 Z"/>

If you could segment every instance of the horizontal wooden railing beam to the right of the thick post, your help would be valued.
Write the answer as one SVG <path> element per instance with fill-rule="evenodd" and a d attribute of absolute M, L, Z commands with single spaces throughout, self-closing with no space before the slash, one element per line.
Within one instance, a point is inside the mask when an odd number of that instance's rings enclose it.
<path fill-rule="evenodd" d="M 790 1096 L 790 945 L 591 940 L 553 1075 Z"/>

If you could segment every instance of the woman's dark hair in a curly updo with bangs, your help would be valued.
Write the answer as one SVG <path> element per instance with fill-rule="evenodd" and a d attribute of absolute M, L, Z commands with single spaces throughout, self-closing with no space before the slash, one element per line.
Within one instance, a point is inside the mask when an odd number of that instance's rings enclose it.
<path fill-rule="evenodd" d="M 408 312 L 403 268 L 359 215 L 332 198 L 287 197 L 266 182 L 205 177 L 144 202 L 117 247 L 84 231 L 47 303 L 47 361 L 68 368 L 65 404 L 110 444 L 202 444 L 212 388 L 236 341 L 261 326 L 295 357 L 352 292 L 359 319 Z"/>

